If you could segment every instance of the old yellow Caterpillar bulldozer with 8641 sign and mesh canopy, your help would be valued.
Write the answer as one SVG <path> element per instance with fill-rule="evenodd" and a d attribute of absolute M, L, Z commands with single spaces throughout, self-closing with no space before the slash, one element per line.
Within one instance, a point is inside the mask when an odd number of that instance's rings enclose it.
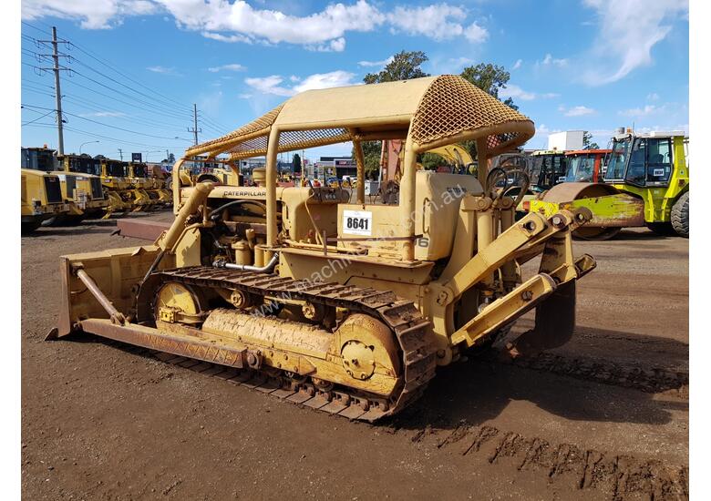
<path fill-rule="evenodd" d="M 310 90 L 188 149 L 173 168 L 175 220 L 152 245 L 63 256 L 72 332 L 231 367 L 290 402 L 375 421 L 414 402 L 438 366 L 488 346 L 520 315 L 510 353 L 572 335 L 575 284 L 595 266 L 572 230 L 589 210 L 528 214 L 478 177 L 417 171 L 417 154 L 476 140 L 479 165 L 534 134 L 531 119 L 457 76 Z M 361 143 L 405 144 L 397 205 L 366 204 Z M 356 202 L 278 187 L 277 155 L 352 141 Z M 181 184 L 197 155 L 266 156 L 254 187 Z M 520 266 L 540 260 L 524 276 Z"/>

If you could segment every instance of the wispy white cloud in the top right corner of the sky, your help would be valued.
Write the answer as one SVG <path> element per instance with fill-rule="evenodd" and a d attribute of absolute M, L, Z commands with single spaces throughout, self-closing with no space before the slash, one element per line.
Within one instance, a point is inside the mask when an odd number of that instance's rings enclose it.
<path fill-rule="evenodd" d="M 676 19 L 688 21 L 687 0 L 583 0 L 597 12 L 600 29 L 586 57 L 583 80 L 598 86 L 616 82 L 652 64 L 652 47 L 665 39 Z"/>

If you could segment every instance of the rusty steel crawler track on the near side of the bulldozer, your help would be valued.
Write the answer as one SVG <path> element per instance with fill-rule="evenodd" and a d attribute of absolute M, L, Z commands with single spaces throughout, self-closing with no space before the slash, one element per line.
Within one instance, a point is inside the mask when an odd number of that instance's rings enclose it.
<path fill-rule="evenodd" d="M 324 391 L 309 378 L 294 379 L 275 367 L 267 367 L 266 370 L 240 368 L 239 373 L 233 377 L 233 381 L 250 387 L 254 386 L 252 383 L 256 381 L 256 386 L 263 393 L 272 393 L 295 404 L 304 404 L 330 414 L 373 422 L 386 415 L 396 414 L 417 400 L 435 375 L 436 350 L 434 343 L 430 342 L 431 323 L 420 314 L 413 302 L 403 300 L 393 292 L 335 282 L 314 284 L 311 281 L 251 271 L 187 267 L 155 271 L 150 275 L 139 292 L 139 319 L 155 318 L 153 298 L 156 291 L 167 282 L 180 282 L 190 285 L 193 289 L 239 290 L 262 297 L 308 301 L 345 308 L 351 313 L 365 313 L 385 322 L 399 344 L 402 360 L 399 376 L 402 381 L 387 400 L 381 395 L 367 394 L 342 384 Z M 225 364 L 224 360 L 215 358 L 213 354 L 196 350 L 190 345 L 159 342 L 147 347 L 206 362 Z"/>

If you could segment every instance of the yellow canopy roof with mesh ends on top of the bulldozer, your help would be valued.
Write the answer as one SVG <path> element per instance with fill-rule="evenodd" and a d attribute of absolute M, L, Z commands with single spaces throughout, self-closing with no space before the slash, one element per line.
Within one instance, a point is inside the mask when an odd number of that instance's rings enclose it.
<path fill-rule="evenodd" d="M 279 152 L 357 139 L 404 139 L 409 131 L 417 151 L 486 138 L 489 156 L 520 146 L 535 131 L 530 118 L 479 87 L 442 75 L 309 90 L 221 138 L 188 149 L 186 156 L 263 156 L 272 128 L 280 131 Z"/>

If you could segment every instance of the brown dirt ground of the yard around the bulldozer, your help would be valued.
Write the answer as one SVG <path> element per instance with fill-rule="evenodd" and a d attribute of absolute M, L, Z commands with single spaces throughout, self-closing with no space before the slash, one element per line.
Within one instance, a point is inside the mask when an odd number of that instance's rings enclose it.
<path fill-rule="evenodd" d="M 26 499 L 688 497 L 688 240 L 576 242 L 598 267 L 570 343 L 469 358 L 370 425 L 96 337 L 45 342 L 58 256 L 143 242 L 115 224 L 22 239 Z"/>

